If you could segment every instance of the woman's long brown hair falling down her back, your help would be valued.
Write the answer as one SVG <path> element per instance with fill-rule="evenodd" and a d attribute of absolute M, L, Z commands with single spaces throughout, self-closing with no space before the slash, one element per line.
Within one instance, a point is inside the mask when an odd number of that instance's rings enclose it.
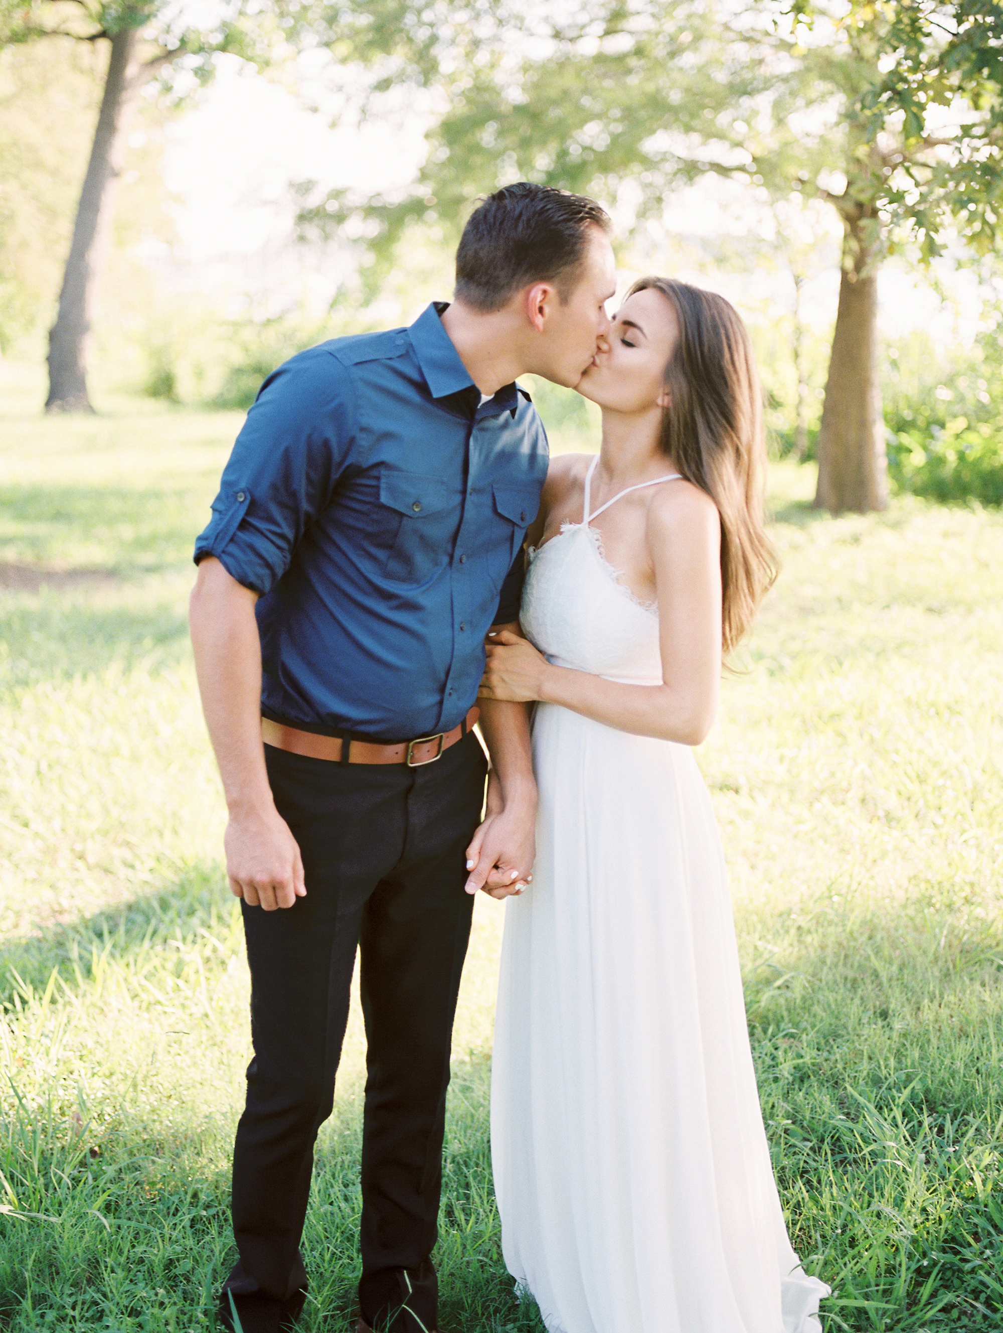
<path fill-rule="evenodd" d="M 721 515 L 722 644 L 730 652 L 777 577 L 763 531 L 766 441 L 759 376 L 738 311 L 671 277 L 642 277 L 627 296 L 661 292 L 679 321 L 665 371 L 662 448 Z"/>

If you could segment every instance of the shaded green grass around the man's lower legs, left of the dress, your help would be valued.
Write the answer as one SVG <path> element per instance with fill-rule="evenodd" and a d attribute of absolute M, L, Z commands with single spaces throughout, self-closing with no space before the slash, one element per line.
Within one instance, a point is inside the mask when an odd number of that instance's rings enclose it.
<path fill-rule="evenodd" d="M 501 1257 L 488 1144 L 488 1066 L 454 1077 L 436 1266 L 441 1326 L 543 1333 Z M 131 1114 L 101 1152 L 67 1146 L 63 1126 L 0 1122 L 0 1169 L 17 1209 L 0 1218 L 0 1328 L 11 1333 L 177 1333 L 210 1329 L 234 1258 L 229 1170 L 208 1165 L 204 1130 L 165 1140 Z M 302 1237 L 310 1293 L 302 1333 L 350 1333 L 360 1272 L 358 1105 L 324 1126 Z M 225 1145 L 229 1150 L 229 1142 Z"/>

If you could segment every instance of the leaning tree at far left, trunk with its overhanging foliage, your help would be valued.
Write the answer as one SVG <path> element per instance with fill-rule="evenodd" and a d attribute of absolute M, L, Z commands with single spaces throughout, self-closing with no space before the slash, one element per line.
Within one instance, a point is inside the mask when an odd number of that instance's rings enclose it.
<path fill-rule="evenodd" d="M 230 52 L 269 64 L 302 24 L 294 0 L 264 8 L 234 0 L 217 21 L 186 25 L 184 7 L 167 0 L 0 0 L 4 44 L 64 39 L 107 45 L 101 107 L 80 191 L 59 313 L 49 332 L 47 412 L 93 411 L 87 392 L 87 345 L 117 157 L 129 108 L 155 81 L 173 100 L 204 85 L 213 61 Z"/>

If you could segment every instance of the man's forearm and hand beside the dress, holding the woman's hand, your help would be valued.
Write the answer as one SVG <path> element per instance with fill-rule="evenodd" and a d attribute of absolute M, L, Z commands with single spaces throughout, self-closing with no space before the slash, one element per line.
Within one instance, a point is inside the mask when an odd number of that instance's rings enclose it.
<path fill-rule="evenodd" d="M 518 623 L 497 625 L 519 633 Z M 481 698 L 481 734 L 492 756 L 485 818 L 468 848 L 466 892 L 521 893 L 535 858 L 537 784 L 525 704 Z"/>

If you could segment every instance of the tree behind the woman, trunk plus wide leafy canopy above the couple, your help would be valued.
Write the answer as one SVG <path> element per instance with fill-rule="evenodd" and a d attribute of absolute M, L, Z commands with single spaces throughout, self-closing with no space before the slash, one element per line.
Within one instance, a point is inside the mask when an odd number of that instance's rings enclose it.
<path fill-rule="evenodd" d="M 826 0 L 793 11 L 601 0 L 561 19 L 519 0 L 393 8 L 390 77 L 446 108 L 425 167 L 404 197 L 340 192 L 305 208 L 302 225 L 361 220 L 386 256 L 422 221 L 454 233 L 478 193 L 519 177 L 619 199 L 635 220 L 707 172 L 774 201 L 822 197 L 844 243 L 817 504 L 883 508 L 876 272 L 895 245 L 930 257 L 950 225 L 990 243 L 999 3 L 850 0 L 829 13 Z"/>

